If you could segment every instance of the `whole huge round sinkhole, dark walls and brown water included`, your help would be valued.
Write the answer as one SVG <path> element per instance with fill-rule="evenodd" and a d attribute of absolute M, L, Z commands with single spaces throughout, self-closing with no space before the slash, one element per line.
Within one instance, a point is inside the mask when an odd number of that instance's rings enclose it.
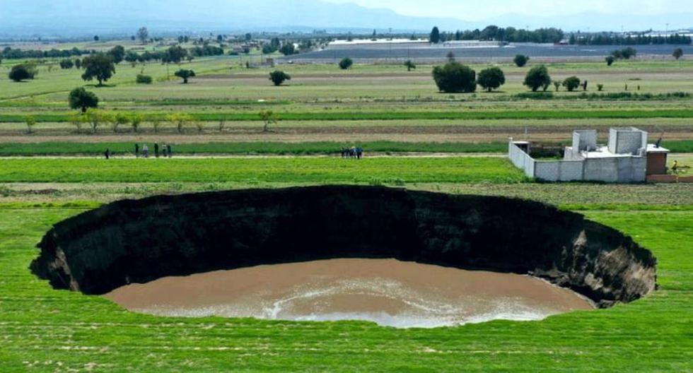
<path fill-rule="evenodd" d="M 126 200 L 54 225 L 57 289 L 162 316 L 437 327 L 538 320 L 656 289 L 630 237 L 542 203 L 366 186 Z"/>

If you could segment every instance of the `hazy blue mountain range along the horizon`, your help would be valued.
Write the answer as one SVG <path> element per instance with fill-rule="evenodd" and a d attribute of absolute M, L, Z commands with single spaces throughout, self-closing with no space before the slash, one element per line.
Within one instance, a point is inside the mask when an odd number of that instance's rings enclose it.
<path fill-rule="evenodd" d="M 560 18 L 503 15 L 482 22 L 449 18 L 402 16 L 390 9 L 320 0 L 2 0 L 0 35 L 129 35 L 146 25 L 153 32 L 245 32 L 392 29 L 398 32 L 483 28 L 558 27 L 564 30 L 646 30 L 672 28 L 693 19 L 693 13 L 663 16 L 611 16 L 581 13 Z M 460 17 L 462 18 L 462 17 Z"/>

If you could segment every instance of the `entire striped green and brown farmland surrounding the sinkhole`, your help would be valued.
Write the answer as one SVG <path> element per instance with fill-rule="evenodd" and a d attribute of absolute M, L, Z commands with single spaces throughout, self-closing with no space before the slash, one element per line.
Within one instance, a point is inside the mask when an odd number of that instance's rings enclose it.
<path fill-rule="evenodd" d="M 117 44 L 144 48 L 130 41 L 59 47 Z M 477 73 L 501 67 L 506 84 L 493 93 L 443 94 L 425 60 L 414 71 L 399 62 L 344 71 L 333 63 L 265 66 L 262 57 L 123 62 L 104 87 L 59 69 L 57 60 L 38 61 L 34 80 L 13 83 L 8 71 L 20 61 L 1 62 L 0 372 L 693 371 L 693 184 L 544 184 L 506 159 L 511 137 L 559 148 L 575 129 L 597 129 L 605 143 L 608 129 L 635 126 L 672 150 L 669 167 L 693 166 L 693 60 L 548 62 L 556 80 L 589 82 L 587 92 L 571 93 L 524 87 L 537 61 L 523 68 L 472 61 Z M 181 68 L 197 76 L 182 84 L 173 76 Z M 274 87 L 267 76 L 277 69 L 291 81 Z M 139 73 L 153 83 L 135 83 Z M 98 95 L 111 118 L 140 114 L 143 122 L 76 125 L 67 104 L 76 87 Z M 268 131 L 265 110 L 276 120 Z M 185 124 L 175 114 L 187 115 Z M 136 143 L 151 155 L 155 142 L 173 144 L 173 159 L 134 158 Z M 351 146 L 366 158 L 339 158 Z M 148 316 L 53 290 L 28 269 L 52 225 L 103 203 L 330 184 L 505 196 L 583 213 L 650 249 L 659 289 L 543 321 L 395 329 Z"/>

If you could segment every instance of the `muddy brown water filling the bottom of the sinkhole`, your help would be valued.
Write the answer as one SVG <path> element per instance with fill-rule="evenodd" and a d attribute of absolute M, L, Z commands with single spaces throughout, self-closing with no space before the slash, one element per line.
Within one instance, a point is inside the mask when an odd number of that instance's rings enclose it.
<path fill-rule="evenodd" d="M 105 295 L 134 312 L 437 327 L 539 320 L 591 304 L 530 276 L 390 259 L 335 259 L 161 278 Z"/>

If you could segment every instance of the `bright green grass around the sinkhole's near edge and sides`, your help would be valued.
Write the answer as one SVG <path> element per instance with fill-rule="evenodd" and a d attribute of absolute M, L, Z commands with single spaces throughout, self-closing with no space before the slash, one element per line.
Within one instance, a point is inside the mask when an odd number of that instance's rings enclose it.
<path fill-rule="evenodd" d="M 165 318 L 52 290 L 28 270 L 35 244 L 88 204 L 0 205 L 2 372 L 687 372 L 693 211 L 588 211 L 658 259 L 660 289 L 631 304 L 544 321 L 383 328 Z"/>

